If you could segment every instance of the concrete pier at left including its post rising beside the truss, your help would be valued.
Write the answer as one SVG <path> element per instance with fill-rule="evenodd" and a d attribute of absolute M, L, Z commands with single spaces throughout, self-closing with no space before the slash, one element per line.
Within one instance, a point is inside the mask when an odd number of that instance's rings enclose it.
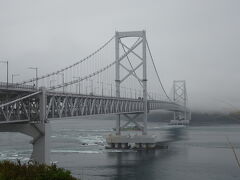
<path fill-rule="evenodd" d="M 1 124 L 0 132 L 19 132 L 31 136 L 33 145 L 33 151 L 31 159 L 39 163 L 50 163 L 50 123 L 46 118 L 46 89 L 41 88 L 42 93 L 38 94 L 39 98 L 39 109 L 36 111 L 36 115 L 39 115 L 38 121 L 31 121 L 31 116 L 28 115 L 29 121 L 25 122 L 13 122 L 11 120 Z M 31 114 L 31 109 L 29 109 Z M 39 112 L 39 114 L 38 114 Z"/>

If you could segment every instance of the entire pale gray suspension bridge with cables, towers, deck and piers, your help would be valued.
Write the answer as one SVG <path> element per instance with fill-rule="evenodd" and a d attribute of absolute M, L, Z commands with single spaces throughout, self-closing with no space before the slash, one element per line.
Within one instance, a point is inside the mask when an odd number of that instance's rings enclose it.
<path fill-rule="evenodd" d="M 185 81 L 174 81 L 172 91 L 170 96 L 163 87 L 146 32 L 116 32 L 70 66 L 18 83 L 0 83 L 0 131 L 33 137 L 32 159 L 47 163 L 51 119 L 112 114 L 115 136 L 107 142 L 113 148 L 128 145 L 122 129 L 130 124 L 142 132 L 131 142 L 147 146 L 153 143 L 147 126 L 150 111 L 172 111 L 172 124 L 189 123 Z"/>

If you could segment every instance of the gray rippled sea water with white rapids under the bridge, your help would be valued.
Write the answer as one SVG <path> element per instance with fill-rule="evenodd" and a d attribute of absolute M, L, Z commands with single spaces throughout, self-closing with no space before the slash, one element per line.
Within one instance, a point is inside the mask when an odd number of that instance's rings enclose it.
<path fill-rule="evenodd" d="M 65 119 L 51 121 L 51 159 L 81 179 L 95 180 L 237 180 L 240 171 L 228 137 L 240 155 L 239 125 L 195 126 L 168 149 L 106 150 L 105 137 L 114 120 Z M 150 122 L 150 133 L 164 134 L 166 123 Z M 155 129 L 155 130 L 154 130 Z M 156 130 L 157 129 L 157 130 Z M 0 159 L 27 161 L 31 138 L 0 133 Z"/>

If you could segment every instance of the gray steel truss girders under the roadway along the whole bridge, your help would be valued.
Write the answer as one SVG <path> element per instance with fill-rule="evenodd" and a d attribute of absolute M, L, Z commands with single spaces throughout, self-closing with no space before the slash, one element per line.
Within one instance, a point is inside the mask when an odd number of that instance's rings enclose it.
<path fill-rule="evenodd" d="M 141 99 L 84 96 L 46 92 L 46 120 L 52 118 L 89 116 L 101 114 L 134 114 L 144 112 Z M 0 106 L 0 123 L 40 121 L 40 99 L 42 93 L 20 98 Z M 148 101 L 148 110 L 165 109 L 184 111 L 184 107 L 173 102 Z"/>

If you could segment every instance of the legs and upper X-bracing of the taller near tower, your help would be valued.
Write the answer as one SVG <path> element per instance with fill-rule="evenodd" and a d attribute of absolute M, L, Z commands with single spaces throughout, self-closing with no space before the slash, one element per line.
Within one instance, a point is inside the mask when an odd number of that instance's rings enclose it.
<path fill-rule="evenodd" d="M 124 38 L 131 38 L 131 37 L 138 37 L 139 39 L 132 45 L 132 47 L 127 47 L 121 39 Z M 139 41 L 140 40 L 140 41 Z M 120 54 L 120 48 L 119 46 L 122 46 L 124 54 Z M 134 52 L 134 49 L 138 46 L 141 47 L 141 55 L 138 55 L 136 52 Z M 126 51 L 126 47 L 128 50 Z M 142 133 L 143 135 L 147 135 L 147 123 L 148 123 L 148 92 L 147 92 L 147 56 L 146 56 L 146 47 L 147 47 L 147 40 L 146 40 L 146 32 L 145 31 L 132 31 L 132 32 L 116 32 L 115 34 L 115 85 L 116 85 L 116 97 L 121 97 L 120 92 L 120 85 L 124 83 L 130 76 L 133 76 L 134 78 L 139 81 L 140 87 L 142 88 L 142 97 L 140 97 L 143 100 L 143 107 L 139 112 L 143 112 L 143 129 Z M 136 57 L 141 61 L 140 64 L 138 64 L 135 68 L 132 66 L 129 54 L 133 53 L 136 55 Z M 130 63 L 131 67 L 126 67 L 124 60 L 128 61 L 127 64 Z M 140 73 L 137 73 L 137 70 L 141 68 Z M 120 69 L 124 69 L 124 71 L 128 71 L 127 74 L 123 75 L 120 74 Z M 126 112 L 125 112 L 126 113 Z M 121 132 L 120 129 L 120 115 L 118 115 L 116 120 L 116 134 L 119 135 Z"/>

